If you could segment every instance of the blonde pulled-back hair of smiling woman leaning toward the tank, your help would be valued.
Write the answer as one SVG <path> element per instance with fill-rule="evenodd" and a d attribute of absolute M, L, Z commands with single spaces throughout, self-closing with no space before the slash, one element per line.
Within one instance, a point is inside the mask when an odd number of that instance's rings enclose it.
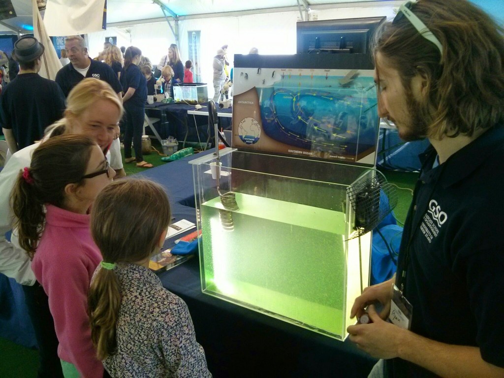
<path fill-rule="evenodd" d="M 112 87 L 103 80 L 87 78 L 70 91 L 67 97 L 67 108 L 65 109 L 64 117 L 47 127 L 45 134 L 51 133 L 51 136 L 56 136 L 68 131 L 72 132 L 71 129 L 67 128 L 69 119 L 79 118 L 97 100 L 112 101 L 117 105 L 120 118 L 122 118 L 124 111 L 122 102 L 119 101 Z"/>

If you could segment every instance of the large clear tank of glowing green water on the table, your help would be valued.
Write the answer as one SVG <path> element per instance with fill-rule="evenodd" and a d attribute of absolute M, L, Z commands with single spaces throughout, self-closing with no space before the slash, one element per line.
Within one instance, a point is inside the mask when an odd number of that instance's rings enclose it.
<path fill-rule="evenodd" d="M 232 148 L 220 155 L 220 175 L 214 155 L 191 161 L 203 292 L 343 340 L 371 249 L 370 232 L 355 237 L 349 193 L 374 169 Z"/>

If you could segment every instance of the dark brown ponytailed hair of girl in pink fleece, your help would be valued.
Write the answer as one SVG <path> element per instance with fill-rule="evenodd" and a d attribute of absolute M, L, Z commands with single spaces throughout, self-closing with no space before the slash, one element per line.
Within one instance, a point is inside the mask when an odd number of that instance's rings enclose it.
<path fill-rule="evenodd" d="M 81 184 L 96 143 L 77 134 L 60 135 L 33 151 L 30 167 L 20 171 L 11 194 L 19 245 L 33 258 L 44 229 L 44 205 L 62 207 L 65 187 Z"/>

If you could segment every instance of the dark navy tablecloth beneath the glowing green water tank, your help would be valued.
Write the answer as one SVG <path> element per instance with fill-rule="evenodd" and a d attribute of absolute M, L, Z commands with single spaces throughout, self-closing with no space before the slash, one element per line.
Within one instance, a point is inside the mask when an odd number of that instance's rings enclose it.
<path fill-rule="evenodd" d="M 187 156 L 143 172 L 142 176 L 166 187 L 175 222 L 187 219 L 196 223 L 192 165 L 188 161 L 212 153 Z M 181 235 L 167 240 L 165 246 Z M 187 303 L 196 338 L 205 349 L 214 377 L 367 377 L 376 362 L 349 341 L 203 293 L 198 257 L 159 277 L 165 288 Z"/>

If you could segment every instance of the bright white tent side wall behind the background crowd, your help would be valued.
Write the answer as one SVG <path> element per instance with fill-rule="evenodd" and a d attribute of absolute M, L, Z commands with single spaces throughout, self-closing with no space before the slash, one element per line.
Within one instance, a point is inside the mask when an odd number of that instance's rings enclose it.
<path fill-rule="evenodd" d="M 387 16 L 394 17 L 393 6 L 370 3 L 359 7 L 315 9 L 319 20 L 343 19 L 352 17 Z M 187 32 L 201 31 L 201 74 L 202 81 L 208 83 L 209 96 L 213 96 L 212 60 L 217 49 L 228 44 L 231 62 L 234 54 L 247 54 L 251 47 L 257 47 L 261 54 L 293 54 L 296 52 L 296 22 L 299 12 L 272 12 L 251 15 L 192 18 L 179 21 L 179 49 L 181 60 L 188 58 Z M 117 36 L 119 46 L 134 45 L 157 65 L 175 38 L 166 22 L 138 24 L 108 28 L 88 36 L 89 49 L 96 56 L 103 48 L 105 37 Z"/>

